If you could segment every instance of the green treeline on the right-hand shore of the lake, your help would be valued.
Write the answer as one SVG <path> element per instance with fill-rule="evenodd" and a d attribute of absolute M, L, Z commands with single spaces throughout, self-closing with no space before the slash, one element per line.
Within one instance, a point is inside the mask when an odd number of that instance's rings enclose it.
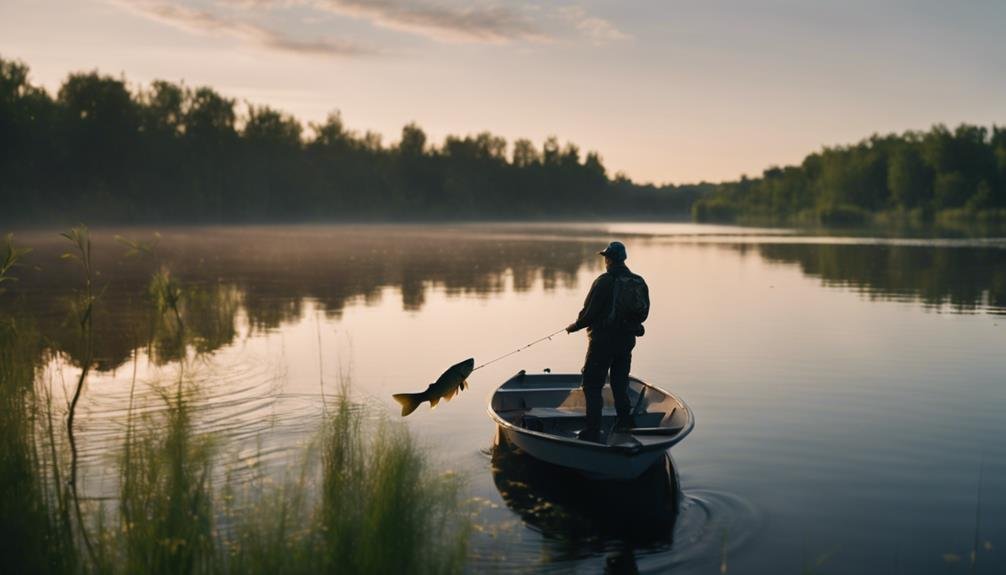
<path fill-rule="evenodd" d="M 692 207 L 699 221 L 859 223 L 888 218 L 1006 220 L 1006 128 L 873 136 L 825 148 L 799 166 L 720 184 Z"/>

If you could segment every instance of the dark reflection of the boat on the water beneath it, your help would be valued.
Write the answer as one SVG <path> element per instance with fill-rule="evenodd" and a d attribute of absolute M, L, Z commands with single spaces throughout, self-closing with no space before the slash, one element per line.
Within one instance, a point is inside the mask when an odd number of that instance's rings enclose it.
<path fill-rule="evenodd" d="M 492 473 L 503 502 L 541 533 L 552 561 L 604 554 L 607 571 L 635 573 L 637 551 L 673 542 L 680 491 L 669 456 L 632 482 L 597 482 L 496 441 Z"/>

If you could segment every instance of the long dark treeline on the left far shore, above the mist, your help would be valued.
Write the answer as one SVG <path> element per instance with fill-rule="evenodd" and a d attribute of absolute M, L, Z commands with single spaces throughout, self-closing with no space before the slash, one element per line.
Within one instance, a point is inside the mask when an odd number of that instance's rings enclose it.
<path fill-rule="evenodd" d="M 209 87 L 70 74 L 55 97 L 0 58 L 0 219 L 310 221 L 687 214 L 711 185 L 637 185 L 549 138 L 390 146 L 338 113 L 305 127 Z"/>

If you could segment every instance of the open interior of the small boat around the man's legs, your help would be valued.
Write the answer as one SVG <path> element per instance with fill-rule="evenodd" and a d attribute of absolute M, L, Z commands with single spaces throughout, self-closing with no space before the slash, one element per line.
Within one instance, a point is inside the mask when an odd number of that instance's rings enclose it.
<path fill-rule="evenodd" d="M 520 372 L 496 390 L 491 405 L 500 417 L 518 427 L 575 438 L 586 420 L 586 402 L 579 386 L 579 374 Z M 688 422 L 687 408 L 677 398 L 630 377 L 629 403 L 635 426 L 628 432 L 611 433 L 616 420 L 611 386 L 605 386 L 603 397 L 602 429 L 609 444 L 665 443 Z"/>

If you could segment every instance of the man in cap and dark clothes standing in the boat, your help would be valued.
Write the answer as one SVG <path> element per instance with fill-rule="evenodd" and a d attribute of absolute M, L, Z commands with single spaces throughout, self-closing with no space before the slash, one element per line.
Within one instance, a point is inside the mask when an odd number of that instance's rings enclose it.
<path fill-rule="evenodd" d="M 636 338 L 643 335 L 643 322 L 650 313 L 646 281 L 626 266 L 626 246 L 613 241 L 598 253 L 605 256 L 607 270 L 594 280 L 579 316 L 566 327 L 569 334 L 586 328 L 589 344 L 582 370 L 586 425 L 579 438 L 596 442 L 602 440 L 602 389 L 609 372 L 618 413 L 615 429 L 635 426 L 629 404 L 629 368 Z"/>

